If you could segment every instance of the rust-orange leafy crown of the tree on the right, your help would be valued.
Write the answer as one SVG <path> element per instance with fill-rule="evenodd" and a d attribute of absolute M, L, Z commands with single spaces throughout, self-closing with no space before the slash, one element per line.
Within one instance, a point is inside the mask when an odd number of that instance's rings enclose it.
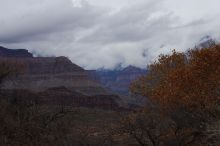
<path fill-rule="evenodd" d="M 211 111 L 220 100 L 220 45 L 160 55 L 148 69 L 131 90 L 162 107 Z"/>

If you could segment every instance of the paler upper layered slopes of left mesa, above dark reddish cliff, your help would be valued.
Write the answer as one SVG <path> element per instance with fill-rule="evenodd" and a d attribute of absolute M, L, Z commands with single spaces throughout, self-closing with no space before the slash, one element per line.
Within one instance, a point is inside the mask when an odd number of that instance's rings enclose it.
<path fill-rule="evenodd" d="M 22 64 L 24 69 L 16 77 L 6 80 L 6 89 L 27 89 L 44 91 L 48 88 L 65 86 L 85 94 L 104 94 L 104 89 L 88 79 L 81 67 L 73 64 L 66 57 L 13 58 Z M 93 90 L 94 88 L 94 90 Z M 96 93 L 97 91 L 97 93 Z M 103 93 L 100 93 L 103 91 Z"/>

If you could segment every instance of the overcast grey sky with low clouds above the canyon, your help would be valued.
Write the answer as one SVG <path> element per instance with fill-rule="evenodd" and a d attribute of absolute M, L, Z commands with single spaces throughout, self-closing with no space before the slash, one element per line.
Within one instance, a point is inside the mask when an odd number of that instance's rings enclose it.
<path fill-rule="evenodd" d="M 0 45 L 86 68 L 146 67 L 220 38 L 219 0 L 0 0 Z"/>

